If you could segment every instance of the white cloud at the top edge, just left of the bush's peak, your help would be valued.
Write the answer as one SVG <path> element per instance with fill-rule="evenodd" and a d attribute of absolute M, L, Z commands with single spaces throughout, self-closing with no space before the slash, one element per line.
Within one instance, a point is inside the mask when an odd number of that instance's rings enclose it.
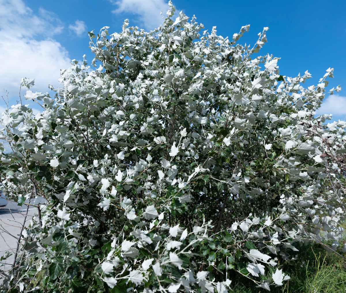
<path fill-rule="evenodd" d="M 111 1 L 118 8 L 113 13 L 133 13 L 139 16 L 140 24 L 147 29 L 158 27 L 162 23 L 162 16 L 166 15 L 168 4 L 164 0 L 120 0 Z"/>

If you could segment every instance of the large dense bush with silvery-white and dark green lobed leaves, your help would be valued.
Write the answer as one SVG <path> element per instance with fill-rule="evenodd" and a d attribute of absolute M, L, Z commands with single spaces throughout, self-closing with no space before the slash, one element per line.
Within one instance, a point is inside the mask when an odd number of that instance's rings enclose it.
<path fill-rule="evenodd" d="M 2 115 L 8 198 L 31 199 L 9 292 L 218 292 L 241 274 L 270 290 L 302 242 L 344 220 L 345 122 L 314 118 L 328 68 L 279 74 L 278 60 L 202 31 L 183 12 L 150 32 L 89 33 L 92 65 L 73 60 L 54 96 Z M 330 92 L 340 88 L 331 89 Z"/>

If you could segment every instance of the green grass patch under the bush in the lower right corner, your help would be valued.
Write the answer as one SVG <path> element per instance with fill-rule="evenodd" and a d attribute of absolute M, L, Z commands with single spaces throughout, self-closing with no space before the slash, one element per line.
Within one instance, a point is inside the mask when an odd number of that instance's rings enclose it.
<path fill-rule="evenodd" d="M 284 267 L 284 272 L 290 275 L 291 280 L 281 287 L 271 286 L 271 292 L 346 293 L 345 258 L 326 252 L 322 245 L 300 247 L 299 250 L 304 251 L 303 256 Z M 242 278 L 234 278 L 232 283 L 234 293 L 268 292 Z"/>

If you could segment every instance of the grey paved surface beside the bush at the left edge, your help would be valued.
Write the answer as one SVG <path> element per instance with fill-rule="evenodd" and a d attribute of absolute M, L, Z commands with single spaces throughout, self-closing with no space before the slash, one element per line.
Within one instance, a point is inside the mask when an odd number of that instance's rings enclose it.
<path fill-rule="evenodd" d="M 17 248 L 17 239 L 21 230 L 21 225 L 25 219 L 26 205 L 18 206 L 15 202 L 8 202 L 6 207 L 0 208 L 0 256 L 4 255 L 6 251 L 13 252 L 13 254 L 6 259 L 5 267 L 0 267 L 0 283 L 2 283 L 1 272 L 10 270 L 14 254 Z M 26 225 L 36 212 L 35 207 L 29 207 Z M 11 235 L 10 235 L 11 234 Z"/>

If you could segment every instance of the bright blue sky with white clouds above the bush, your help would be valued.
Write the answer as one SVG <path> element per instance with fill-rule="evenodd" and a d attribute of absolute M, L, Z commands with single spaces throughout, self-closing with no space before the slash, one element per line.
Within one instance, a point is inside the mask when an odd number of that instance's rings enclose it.
<path fill-rule="evenodd" d="M 89 61 L 87 32 L 109 26 L 120 31 L 122 21 L 152 29 L 167 10 L 166 0 L 25 1 L 0 0 L 0 93 L 9 92 L 10 105 L 18 98 L 21 77 L 35 78 L 36 91 L 58 86 L 60 69 L 71 59 Z M 232 36 L 243 25 L 250 31 L 241 39 L 254 44 L 263 27 L 268 43 L 261 54 L 281 57 L 280 73 L 296 76 L 309 70 L 317 84 L 328 67 L 334 67 L 330 88 L 345 88 L 327 96 L 320 113 L 346 119 L 346 1 L 173 1 L 177 11 L 196 15 L 206 29 L 217 26 L 218 34 Z M 30 104 L 38 109 L 38 105 Z M 0 112 L 5 107 L 0 101 Z"/>

